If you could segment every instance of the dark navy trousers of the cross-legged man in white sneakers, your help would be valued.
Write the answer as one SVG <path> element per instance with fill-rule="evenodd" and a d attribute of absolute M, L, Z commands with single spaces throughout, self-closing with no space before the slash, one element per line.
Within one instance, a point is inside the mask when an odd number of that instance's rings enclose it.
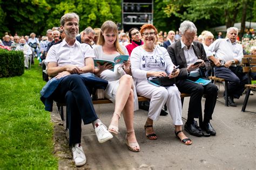
<path fill-rule="evenodd" d="M 66 103 L 70 145 L 81 143 L 82 119 L 84 124 L 92 123 L 98 119 L 89 91 L 82 77 L 72 74 L 64 77 L 53 93 L 53 100 Z"/>

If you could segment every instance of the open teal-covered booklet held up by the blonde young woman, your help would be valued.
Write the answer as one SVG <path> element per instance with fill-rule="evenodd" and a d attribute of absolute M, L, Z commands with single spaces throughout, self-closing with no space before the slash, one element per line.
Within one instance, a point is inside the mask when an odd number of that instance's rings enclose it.
<path fill-rule="evenodd" d="M 97 63 L 100 64 L 100 66 L 104 65 L 106 62 L 110 65 L 113 66 L 112 69 L 110 70 L 114 70 L 114 65 L 118 65 L 120 63 L 123 63 L 124 61 L 127 61 L 129 59 L 129 55 L 118 55 L 114 58 L 114 61 L 110 61 L 110 60 L 103 60 L 103 59 L 93 59 L 94 60 L 94 65 L 95 67 L 98 67 Z"/>

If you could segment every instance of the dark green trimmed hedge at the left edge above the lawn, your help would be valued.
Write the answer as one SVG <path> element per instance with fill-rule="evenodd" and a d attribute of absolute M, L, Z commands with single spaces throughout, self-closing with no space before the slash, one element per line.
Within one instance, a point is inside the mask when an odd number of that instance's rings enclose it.
<path fill-rule="evenodd" d="M 22 51 L 0 49 L 0 77 L 20 76 L 24 73 L 24 54 Z"/>

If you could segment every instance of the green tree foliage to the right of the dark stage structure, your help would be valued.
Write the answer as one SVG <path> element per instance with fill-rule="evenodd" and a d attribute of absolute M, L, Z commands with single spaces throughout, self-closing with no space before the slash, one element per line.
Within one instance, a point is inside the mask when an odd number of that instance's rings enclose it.
<path fill-rule="evenodd" d="M 178 17 L 180 22 L 183 20 L 191 20 L 199 27 L 207 27 L 226 25 L 231 27 L 236 22 L 241 22 L 243 5 L 250 4 L 255 6 L 253 0 L 164 0 L 166 6 L 164 12 L 167 17 Z M 255 10 L 251 9 L 253 15 L 252 21 L 256 19 Z M 247 15 L 248 16 L 248 15 Z"/>

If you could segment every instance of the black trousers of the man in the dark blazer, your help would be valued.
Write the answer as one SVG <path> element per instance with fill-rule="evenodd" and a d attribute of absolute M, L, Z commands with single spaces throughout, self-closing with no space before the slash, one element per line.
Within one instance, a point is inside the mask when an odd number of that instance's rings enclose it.
<path fill-rule="evenodd" d="M 190 77 L 192 81 L 196 81 L 198 77 Z M 193 83 L 188 80 L 179 80 L 176 83 L 179 91 L 181 93 L 190 94 L 190 103 L 188 106 L 187 118 L 198 118 L 202 114 L 201 99 L 203 94 L 205 94 L 205 109 L 204 109 L 204 119 L 211 120 L 212 114 L 215 108 L 218 88 L 213 83 L 208 83 L 206 86 L 201 84 Z"/>

